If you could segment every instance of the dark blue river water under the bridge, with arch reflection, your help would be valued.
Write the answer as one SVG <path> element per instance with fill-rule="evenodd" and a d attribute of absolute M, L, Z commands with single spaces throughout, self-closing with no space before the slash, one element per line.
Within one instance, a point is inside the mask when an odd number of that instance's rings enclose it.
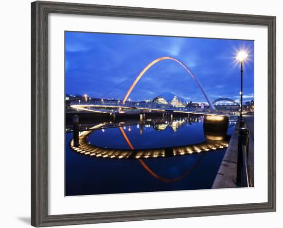
<path fill-rule="evenodd" d="M 90 156 L 92 152 L 83 154 L 74 150 L 70 146 L 73 133 L 67 131 L 65 195 L 209 189 L 226 147 L 205 148 L 219 142 L 227 145 L 234 124 L 228 121 L 223 131 L 223 128 L 218 130 L 217 123 L 207 127 L 203 116 L 192 116 L 103 123 L 95 130 L 92 127 L 97 124 L 80 126 L 80 129 L 89 130 L 85 137 L 88 147 L 92 148 L 89 151 L 101 148 L 103 156 Z M 186 151 L 184 148 L 191 151 L 176 153 L 176 148 L 179 148 L 178 151 Z M 191 148 L 199 149 L 192 152 Z M 135 153 L 114 156 L 115 151 L 119 153 L 121 150 Z M 143 150 L 147 152 L 138 153 Z M 147 158 L 145 154 L 151 154 L 148 151 L 171 152 Z"/>

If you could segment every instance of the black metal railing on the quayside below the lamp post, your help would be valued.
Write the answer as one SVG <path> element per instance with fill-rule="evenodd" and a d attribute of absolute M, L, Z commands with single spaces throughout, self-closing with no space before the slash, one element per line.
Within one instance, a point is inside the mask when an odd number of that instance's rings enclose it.
<path fill-rule="evenodd" d="M 239 128 L 237 183 L 240 187 L 251 187 L 249 168 L 249 129 Z"/>

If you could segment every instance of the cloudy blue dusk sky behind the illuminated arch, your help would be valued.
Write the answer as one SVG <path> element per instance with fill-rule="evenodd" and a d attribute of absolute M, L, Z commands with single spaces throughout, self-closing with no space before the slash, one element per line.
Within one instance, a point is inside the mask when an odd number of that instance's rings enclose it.
<path fill-rule="evenodd" d="M 250 101 L 254 99 L 253 41 L 65 32 L 66 94 L 122 99 L 150 62 L 167 56 L 190 69 L 211 101 L 228 97 L 239 102 L 240 63 L 235 57 L 242 49 L 249 55 L 243 66 L 243 101 Z M 206 103 L 197 83 L 172 60 L 149 68 L 129 98 L 153 99 L 165 92 L 187 102 Z"/>

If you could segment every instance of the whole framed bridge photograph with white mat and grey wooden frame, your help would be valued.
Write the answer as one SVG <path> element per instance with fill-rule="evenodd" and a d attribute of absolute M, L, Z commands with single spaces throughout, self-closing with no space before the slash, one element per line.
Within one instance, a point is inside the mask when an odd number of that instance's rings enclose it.
<path fill-rule="evenodd" d="M 275 23 L 31 3 L 31 225 L 274 212 Z"/>

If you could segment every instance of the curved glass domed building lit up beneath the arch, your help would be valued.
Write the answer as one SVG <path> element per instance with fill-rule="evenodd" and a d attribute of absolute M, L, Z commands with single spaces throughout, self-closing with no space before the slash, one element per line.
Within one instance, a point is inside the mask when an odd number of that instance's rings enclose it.
<path fill-rule="evenodd" d="M 187 102 L 182 97 L 178 97 L 173 93 L 163 93 L 152 100 L 153 103 L 171 104 L 174 107 L 186 107 Z"/>

